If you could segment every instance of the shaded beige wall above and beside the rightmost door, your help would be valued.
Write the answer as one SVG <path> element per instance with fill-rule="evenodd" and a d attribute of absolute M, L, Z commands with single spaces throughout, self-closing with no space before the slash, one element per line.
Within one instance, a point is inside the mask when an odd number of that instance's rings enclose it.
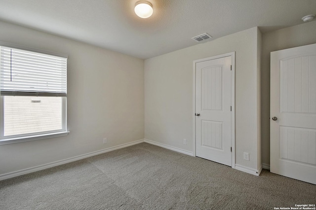
<path fill-rule="evenodd" d="M 270 52 L 316 43 L 316 21 L 262 34 L 262 162 L 270 165 Z"/>

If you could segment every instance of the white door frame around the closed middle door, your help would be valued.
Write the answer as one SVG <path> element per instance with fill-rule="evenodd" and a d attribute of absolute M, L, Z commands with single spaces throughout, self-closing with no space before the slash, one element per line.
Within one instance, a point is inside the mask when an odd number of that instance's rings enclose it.
<path fill-rule="evenodd" d="M 203 62 L 207 60 L 215 60 L 224 57 L 232 58 L 232 77 L 231 77 L 231 101 L 232 101 L 232 113 L 231 113 L 231 128 L 232 128 L 232 168 L 235 168 L 235 52 L 225 53 L 217 56 L 212 56 L 204 59 L 193 60 L 193 112 L 192 112 L 192 120 L 193 120 L 193 156 L 196 155 L 196 64 L 198 62 Z"/>

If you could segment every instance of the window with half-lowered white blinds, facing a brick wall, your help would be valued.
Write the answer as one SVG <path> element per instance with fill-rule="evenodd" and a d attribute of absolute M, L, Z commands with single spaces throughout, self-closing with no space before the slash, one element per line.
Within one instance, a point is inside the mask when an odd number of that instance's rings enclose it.
<path fill-rule="evenodd" d="M 67 56 L 0 46 L 0 144 L 67 135 Z"/>

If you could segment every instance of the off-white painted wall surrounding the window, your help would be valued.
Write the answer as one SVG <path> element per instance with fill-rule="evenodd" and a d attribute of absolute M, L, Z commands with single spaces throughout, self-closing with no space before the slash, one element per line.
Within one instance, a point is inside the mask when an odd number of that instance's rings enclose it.
<path fill-rule="evenodd" d="M 0 41 L 68 55 L 70 131 L 1 145 L 0 175 L 144 138 L 144 60 L 5 22 L 0 29 Z"/>

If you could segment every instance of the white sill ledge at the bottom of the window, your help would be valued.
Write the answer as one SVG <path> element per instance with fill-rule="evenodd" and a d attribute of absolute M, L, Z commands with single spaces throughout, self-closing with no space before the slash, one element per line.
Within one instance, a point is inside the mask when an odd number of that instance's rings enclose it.
<path fill-rule="evenodd" d="M 29 141 L 36 141 L 36 140 L 41 140 L 41 139 L 56 138 L 60 136 L 67 136 L 69 133 L 70 133 L 69 131 L 63 131 L 63 132 L 46 133 L 46 134 L 39 134 L 39 135 L 33 135 L 33 136 L 1 139 L 0 145 L 8 145 L 8 144 L 15 144 L 15 143 L 20 143 L 20 142 L 29 142 Z"/>

